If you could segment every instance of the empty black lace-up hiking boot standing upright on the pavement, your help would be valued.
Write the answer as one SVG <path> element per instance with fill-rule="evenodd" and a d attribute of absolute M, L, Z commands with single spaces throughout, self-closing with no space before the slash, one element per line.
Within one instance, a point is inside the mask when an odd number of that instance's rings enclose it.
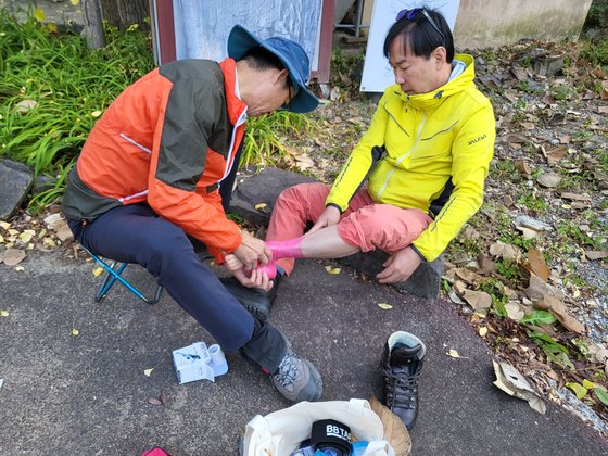
<path fill-rule="evenodd" d="M 410 430 L 418 416 L 418 377 L 427 347 L 416 335 L 393 332 L 387 344 L 380 368 L 384 380 L 382 404 L 389 407 Z"/>

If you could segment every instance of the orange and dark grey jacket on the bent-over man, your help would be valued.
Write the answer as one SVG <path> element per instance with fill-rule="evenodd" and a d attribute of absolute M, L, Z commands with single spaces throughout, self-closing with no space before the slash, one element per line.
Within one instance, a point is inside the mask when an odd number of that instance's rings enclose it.
<path fill-rule="evenodd" d="M 91 221 L 147 202 L 216 259 L 237 249 L 239 227 L 226 218 L 218 191 L 245 127 L 236 79 L 232 59 L 181 60 L 125 89 L 94 125 L 69 175 L 66 217 Z"/>

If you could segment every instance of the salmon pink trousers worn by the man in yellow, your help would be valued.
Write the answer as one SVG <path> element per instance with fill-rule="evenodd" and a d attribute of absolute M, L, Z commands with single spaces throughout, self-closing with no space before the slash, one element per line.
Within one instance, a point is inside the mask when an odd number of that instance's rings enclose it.
<path fill-rule="evenodd" d="M 273 210 L 266 240 L 283 241 L 302 236 L 306 225 L 316 221 L 325 211 L 330 189 L 328 185 L 314 182 L 283 190 Z M 376 203 L 366 189 L 360 189 L 341 215 L 338 235 L 362 252 L 380 249 L 395 253 L 409 245 L 431 221 L 432 218 L 418 208 Z M 277 265 L 289 275 L 294 259 L 281 258 Z"/>

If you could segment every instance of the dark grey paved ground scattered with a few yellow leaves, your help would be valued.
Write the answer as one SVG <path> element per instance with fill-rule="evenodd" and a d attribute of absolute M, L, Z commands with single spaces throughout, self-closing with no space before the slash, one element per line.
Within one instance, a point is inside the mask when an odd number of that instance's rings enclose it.
<path fill-rule="evenodd" d="M 0 265 L 0 311 L 9 313 L 0 317 L 0 454 L 138 455 L 160 445 L 175 456 L 232 455 L 253 416 L 289 406 L 238 355 L 215 383 L 179 385 L 170 352 L 213 341 L 167 294 L 149 306 L 116 287 L 96 304 L 91 263 L 29 253 L 22 265 Z M 153 287 L 139 266 L 126 274 Z M 387 337 L 421 338 L 428 358 L 414 455 L 608 453 L 605 440 L 560 408 L 548 404 L 539 415 L 496 389 L 486 345 L 447 302 L 302 261 L 281 283 L 271 321 L 318 366 L 326 401 L 378 394 Z M 446 356 L 449 349 L 464 358 Z M 165 405 L 149 403 L 161 394 Z"/>

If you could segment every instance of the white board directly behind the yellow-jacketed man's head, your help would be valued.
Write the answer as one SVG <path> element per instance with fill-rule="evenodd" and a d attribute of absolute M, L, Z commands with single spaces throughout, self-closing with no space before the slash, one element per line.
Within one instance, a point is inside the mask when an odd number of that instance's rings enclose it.
<path fill-rule="evenodd" d="M 395 84 L 389 61 L 382 54 L 384 38 L 401 10 L 410 10 L 422 5 L 441 11 L 449 28 L 454 30 L 460 0 L 376 0 L 373 2 L 363 67 L 362 92 L 383 92 L 387 87 Z"/>

